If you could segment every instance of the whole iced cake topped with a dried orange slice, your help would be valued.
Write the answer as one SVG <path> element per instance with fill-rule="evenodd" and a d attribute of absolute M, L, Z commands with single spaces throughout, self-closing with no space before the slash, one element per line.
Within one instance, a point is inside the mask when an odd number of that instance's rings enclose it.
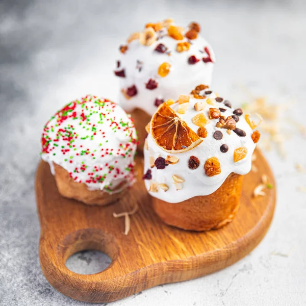
<path fill-rule="evenodd" d="M 160 105 L 147 126 L 143 175 L 159 217 L 194 231 L 231 222 L 258 124 L 206 85 Z"/>

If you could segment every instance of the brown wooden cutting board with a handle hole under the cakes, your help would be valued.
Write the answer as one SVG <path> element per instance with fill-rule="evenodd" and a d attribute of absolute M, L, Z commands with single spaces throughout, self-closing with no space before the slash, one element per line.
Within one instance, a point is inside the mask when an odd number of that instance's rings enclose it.
<path fill-rule="evenodd" d="M 120 202 L 90 207 L 62 197 L 49 165 L 41 162 L 36 197 L 41 225 L 39 258 L 48 282 L 61 293 L 81 301 L 109 302 L 160 284 L 186 281 L 223 269 L 248 254 L 264 237 L 275 206 L 275 183 L 269 165 L 256 151 L 257 172 L 244 178 L 241 205 L 234 221 L 217 231 L 186 232 L 167 226 L 155 215 L 141 180 L 143 161 L 136 159 L 138 182 Z M 267 174 L 273 189 L 253 198 L 254 188 Z M 130 211 L 131 231 L 123 235 Z M 66 260 L 75 252 L 96 249 L 112 259 L 104 271 L 82 275 L 70 271 Z"/>

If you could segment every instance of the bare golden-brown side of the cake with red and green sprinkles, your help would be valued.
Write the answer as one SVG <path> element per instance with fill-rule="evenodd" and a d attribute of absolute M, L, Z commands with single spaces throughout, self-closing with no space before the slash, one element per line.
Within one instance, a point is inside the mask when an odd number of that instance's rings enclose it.
<path fill-rule="evenodd" d="M 101 190 L 89 190 L 84 183 L 77 183 L 71 179 L 67 170 L 53 163 L 55 171 L 55 181 L 59 193 L 67 198 L 81 201 L 87 205 L 110 205 L 119 200 L 127 191 L 124 189 L 120 193 L 109 194 Z"/>

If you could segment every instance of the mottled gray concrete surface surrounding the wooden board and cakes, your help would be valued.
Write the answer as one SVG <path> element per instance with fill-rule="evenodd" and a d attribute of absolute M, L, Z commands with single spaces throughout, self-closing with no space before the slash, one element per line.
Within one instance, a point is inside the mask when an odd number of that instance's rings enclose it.
<path fill-rule="evenodd" d="M 300 1 L 0 2 L 0 305 L 87 305 L 54 290 L 38 260 L 34 175 L 43 124 L 69 100 L 93 93 L 117 99 L 117 46 L 146 21 L 197 20 L 217 55 L 213 87 L 232 101 L 245 90 L 288 106 L 281 122 L 287 157 L 266 152 L 277 181 L 274 220 L 246 258 L 193 281 L 164 285 L 112 305 L 305 305 L 306 6 Z M 133 221 L 132 221 L 133 222 Z M 133 224 L 132 224 L 133 226 Z M 69 261 L 80 272 L 108 259 Z"/>

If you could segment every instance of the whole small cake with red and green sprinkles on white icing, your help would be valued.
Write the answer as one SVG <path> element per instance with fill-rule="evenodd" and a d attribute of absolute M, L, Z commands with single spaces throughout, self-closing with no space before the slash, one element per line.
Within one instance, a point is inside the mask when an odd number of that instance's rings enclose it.
<path fill-rule="evenodd" d="M 87 95 L 67 104 L 45 124 L 41 143 L 64 197 L 108 205 L 135 182 L 134 122 L 108 99 Z"/>

